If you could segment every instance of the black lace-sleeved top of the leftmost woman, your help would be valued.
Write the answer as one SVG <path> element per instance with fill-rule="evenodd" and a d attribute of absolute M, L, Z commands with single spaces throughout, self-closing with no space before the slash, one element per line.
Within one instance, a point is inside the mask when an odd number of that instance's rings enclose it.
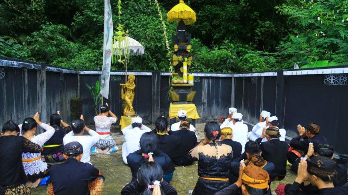
<path fill-rule="evenodd" d="M 41 146 L 22 136 L 0 137 L 0 186 L 21 184 L 26 181 L 22 152 L 39 153 Z"/>

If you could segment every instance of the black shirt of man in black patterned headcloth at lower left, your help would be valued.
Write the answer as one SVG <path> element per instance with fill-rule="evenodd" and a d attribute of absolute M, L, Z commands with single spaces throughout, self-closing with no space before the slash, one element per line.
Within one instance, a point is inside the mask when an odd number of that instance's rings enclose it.
<path fill-rule="evenodd" d="M 95 179 L 98 174 L 99 170 L 92 164 L 68 158 L 64 163 L 50 168 L 48 183 L 53 184 L 55 195 L 88 195 L 88 181 Z"/>

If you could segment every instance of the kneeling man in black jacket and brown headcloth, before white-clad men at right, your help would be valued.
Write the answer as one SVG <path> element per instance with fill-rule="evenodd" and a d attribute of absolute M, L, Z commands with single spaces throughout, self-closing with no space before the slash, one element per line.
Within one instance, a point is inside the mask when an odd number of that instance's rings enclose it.
<path fill-rule="evenodd" d="M 262 139 L 266 137 L 267 142 L 262 142 Z M 289 149 L 289 145 L 279 139 L 279 129 L 276 127 L 264 128 L 262 136 L 256 139 L 260 144 L 260 150 L 262 157 L 274 163 L 274 171 L 272 171 L 272 181 L 282 180 L 286 175 L 286 156 Z"/>

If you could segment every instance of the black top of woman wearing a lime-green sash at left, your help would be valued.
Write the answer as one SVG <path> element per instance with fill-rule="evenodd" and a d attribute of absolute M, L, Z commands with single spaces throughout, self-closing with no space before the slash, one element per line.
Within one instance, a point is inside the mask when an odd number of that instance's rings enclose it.
<path fill-rule="evenodd" d="M 56 131 L 54 132 L 53 136 L 47 140 L 47 142 L 44 145 L 61 145 L 57 147 L 44 147 L 44 151 L 42 151 L 42 155 L 47 154 L 56 154 L 58 152 L 64 151 L 64 145 L 63 145 L 63 137 L 65 134 L 72 131 L 71 126 L 68 127 L 61 127 L 61 126 L 52 126 Z"/>

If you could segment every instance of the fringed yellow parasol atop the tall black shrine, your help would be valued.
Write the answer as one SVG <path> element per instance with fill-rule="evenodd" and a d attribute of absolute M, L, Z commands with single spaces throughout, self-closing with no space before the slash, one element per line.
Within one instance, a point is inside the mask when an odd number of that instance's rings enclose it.
<path fill-rule="evenodd" d="M 182 20 L 185 25 L 190 25 L 196 22 L 196 12 L 180 0 L 179 4 L 168 11 L 167 18 L 169 22 L 179 23 Z"/>

